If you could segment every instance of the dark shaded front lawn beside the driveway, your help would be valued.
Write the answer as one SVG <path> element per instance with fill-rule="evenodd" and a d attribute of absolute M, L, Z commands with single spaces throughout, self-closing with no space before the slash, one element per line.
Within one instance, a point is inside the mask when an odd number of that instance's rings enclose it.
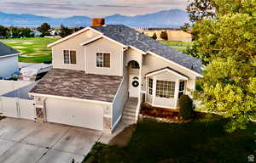
<path fill-rule="evenodd" d="M 125 147 L 96 143 L 84 163 L 241 163 L 256 155 L 256 124 L 226 132 L 227 120 L 203 117 L 186 124 L 144 119 Z"/>

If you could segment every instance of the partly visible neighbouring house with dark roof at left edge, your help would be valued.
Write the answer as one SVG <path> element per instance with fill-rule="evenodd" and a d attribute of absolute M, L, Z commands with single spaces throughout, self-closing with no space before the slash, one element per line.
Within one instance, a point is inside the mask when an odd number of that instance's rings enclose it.
<path fill-rule="evenodd" d="M 0 42 L 0 79 L 6 79 L 19 72 L 20 52 Z"/>

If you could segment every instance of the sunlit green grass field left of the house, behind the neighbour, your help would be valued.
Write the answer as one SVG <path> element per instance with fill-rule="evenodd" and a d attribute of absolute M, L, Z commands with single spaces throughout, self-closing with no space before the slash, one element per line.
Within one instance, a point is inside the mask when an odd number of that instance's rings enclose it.
<path fill-rule="evenodd" d="M 42 63 L 52 59 L 51 49 L 47 48 L 47 45 L 56 40 L 55 38 L 12 38 L 2 39 L 0 42 L 20 51 L 22 53 L 19 56 L 20 62 Z"/>

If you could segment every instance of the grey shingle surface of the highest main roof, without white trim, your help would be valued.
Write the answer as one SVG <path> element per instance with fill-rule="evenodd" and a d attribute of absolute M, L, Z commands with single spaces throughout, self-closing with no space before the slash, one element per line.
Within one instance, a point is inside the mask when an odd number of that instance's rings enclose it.
<path fill-rule="evenodd" d="M 112 38 L 113 40 L 124 44 L 125 46 L 133 46 L 144 52 L 153 52 L 166 59 L 176 62 L 179 65 L 183 65 L 190 70 L 194 70 L 201 74 L 201 61 L 189 56 L 185 53 L 181 53 L 174 48 L 170 48 L 154 39 L 138 34 L 138 31 L 131 29 L 125 25 L 104 25 L 100 27 L 93 27 L 97 31 L 102 32 L 105 36 Z"/>

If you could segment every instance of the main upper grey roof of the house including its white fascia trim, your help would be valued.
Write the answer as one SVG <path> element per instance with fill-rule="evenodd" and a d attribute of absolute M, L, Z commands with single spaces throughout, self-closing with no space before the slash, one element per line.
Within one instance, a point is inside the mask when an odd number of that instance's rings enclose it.
<path fill-rule="evenodd" d="M 107 38 L 113 42 L 118 42 L 120 45 L 124 47 L 135 48 L 143 54 L 149 53 L 154 54 L 161 59 L 165 59 L 166 61 L 171 62 L 177 66 L 181 66 L 190 72 L 194 73 L 196 76 L 201 76 L 201 61 L 199 59 L 195 59 L 192 56 L 189 56 L 185 53 L 181 53 L 174 48 L 170 48 L 154 39 L 143 35 L 142 33 L 138 33 L 138 31 L 131 29 L 125 25 L 103 25 L 99 27 L 88 26 L 81 31 L 77 31 L 72 35 L 62 38 L 57 42 L 53 42 L 48 45 L 48 47 L 52 47 L 57 43 L 64 42 L 71 37 L 75 37 L 80 33 L 92 30 L 96 31 L 101 36 L 100 37 Z M 138 36 L 138 39 L 137 39 Z M 94 42 L 92 39 L 89 42 L 82 42 L 86 45 L 90 42 Z"/>

